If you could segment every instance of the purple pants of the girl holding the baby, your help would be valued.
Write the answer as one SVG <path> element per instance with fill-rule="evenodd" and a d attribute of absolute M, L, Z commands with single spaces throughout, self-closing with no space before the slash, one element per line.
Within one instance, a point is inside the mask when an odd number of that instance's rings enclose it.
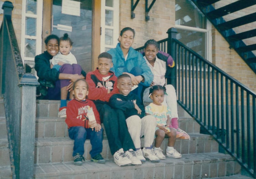
<path fill-rule="evenodd" d="M 60 69 L 60 73 L 66 74 L 79 74 L 81 75 L 82 67 L 79 64 L 63 64 Z M 70 84 L 69 79 L 60 79 L 55 81 L 55 88 L 48 88 L 46 99 L 48 100 L 60 100 L 60 89 Z M 69 95 L 68 95 L 69 96 Z"/>

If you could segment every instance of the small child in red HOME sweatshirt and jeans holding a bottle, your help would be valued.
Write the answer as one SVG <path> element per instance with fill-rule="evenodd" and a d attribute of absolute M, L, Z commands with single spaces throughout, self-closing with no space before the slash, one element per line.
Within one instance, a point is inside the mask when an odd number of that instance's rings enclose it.
<path fill-rule="evenodd" d="M 83 164 L 84 143 L 90 139 L 91 161 L 105 163 L 101 156 L 103 129 L 101 129 L 99 113 L 94 103 L 88 99 L 88 84 L 84 79 L 78 79 L 73 84 L 73 100 L 67 106 L 66 123 L 69 137 L 74 140 L 74 165 Z"/>

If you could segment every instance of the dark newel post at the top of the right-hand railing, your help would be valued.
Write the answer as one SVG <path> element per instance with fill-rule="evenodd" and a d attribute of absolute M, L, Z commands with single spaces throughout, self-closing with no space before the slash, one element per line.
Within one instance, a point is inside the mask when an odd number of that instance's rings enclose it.
<path fill-rule="evenodd" d="M 171 27 L 166 32 L 168 33 L 168 40 L 167 40 L 167 53 L 170 54 L 176 64 L 175 61 L 175 48 L 172 46 L 172 39 L 176 39 L 177 30 L 174 27 Z M 176 77 L 176 67 L 173 67 L 171 71 L 171 77 L 167 79 L 167 84 L 172 84 L 174 88 L 176 88 L 175 84 L 175 77 Z"/>

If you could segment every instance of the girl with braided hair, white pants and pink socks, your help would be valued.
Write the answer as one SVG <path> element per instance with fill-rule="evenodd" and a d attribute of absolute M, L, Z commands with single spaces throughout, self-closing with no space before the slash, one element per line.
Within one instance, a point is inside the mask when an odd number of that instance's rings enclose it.
<path fill-rule="evenodd" d="M 150 86 L 161 85 L 165 86 L 168 95 L 165 96 L 163 102 L 170 108 L 172 116 L 170 127 L 176 130 L 176 138 L 190 139 L 189 135 L 179 128 L 178 123 L 178 110 L 177 110 L 177 97 L 175 89 L 172 85 L 166 85 L 166 75 L 169 75 L 170 68 L 174 66 L 174 61 L 169 54 L 162 51 L 158 51 L 158 43 L 154 40 L 148 40 L 144 45 L 144 59 L 154 74 L 154 80 Z M 145 89 L 143 94 L 143 102 L 152 103 L 152 100 L 148 97 L 151 87 Z"/>

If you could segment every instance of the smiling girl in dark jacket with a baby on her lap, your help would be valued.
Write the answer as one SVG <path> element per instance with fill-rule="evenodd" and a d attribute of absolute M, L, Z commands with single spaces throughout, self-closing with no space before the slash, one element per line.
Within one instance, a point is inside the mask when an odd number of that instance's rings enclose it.
<path fill-rule="evenodd" d="M 66 64 L 62 65 L 59 71 L 54 68 L 51 69 L 50 60 L 59 52 L 59 38 L 57 35 L 49 35 L 44 42 L 46 51 L 35 56 L 35 70 L 40 83 L 37 99 L 60 100 L 60 96 L 67 97 L 73 82 L 85 78 L 86 73 L 81 69 L 82 75 L 72 74 Z M 66 90 L 61 90 L 65 89 L 63 87 L 66 87 Z M 64 110 L 65 114 L 58 115 L 58 117 L 66 117 L 66 109 Z"/>

